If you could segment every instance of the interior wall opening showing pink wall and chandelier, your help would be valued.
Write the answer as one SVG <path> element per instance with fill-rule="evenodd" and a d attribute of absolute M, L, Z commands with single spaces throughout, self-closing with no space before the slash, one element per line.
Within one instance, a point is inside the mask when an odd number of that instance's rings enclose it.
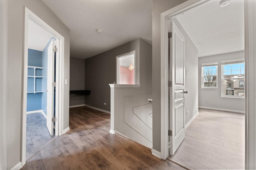
<path fill-rule="evenodd" d="M 116 57 L 117 84 L 135 84 L 135 51 Z"/>

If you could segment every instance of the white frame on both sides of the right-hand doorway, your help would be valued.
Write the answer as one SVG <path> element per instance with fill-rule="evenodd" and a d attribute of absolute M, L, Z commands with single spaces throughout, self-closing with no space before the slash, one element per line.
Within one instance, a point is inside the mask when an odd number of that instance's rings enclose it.
<path fill-rule="evenodd" d="M 169 21 L 173 18 L 175 18 L 175 16 L 177 14 L 182 14 L 183 12 L 185 12 L 188 9 L 194 8 L 195 6 L 198 6 L 200 4 L 203 4 L 205 2 L 208 2 L 208 0 L 198 0 L 198 1 L 191 1 L 188 0 L 187 2 L 184 2 L 183 4 L 181 4 L 180 6 L 177 6 L 177 8 L 172 8 L 164 13 L 161 14 L 161 74 L 162 77 L 166 77 L 165 80 L 162 80 L 161 84 L 162 84 L 162 88 L 161 88 L 161 158 L 165 159 L 168 157 L 168 97 L 166 94 L 168 94 L 168 88 L 167 88 L 167 84 L 168 84 L 168 25 L 169 25 Z M 254 2 L 247 2 L 245 1 L 245 20 L 248 21 L 252 21 L 252 19 L 248 16 L 250 16 L 249 14 L 252 15 L 252 18 L 255 18 L 255 16 L 252 14 L 252 12 L 255 11 L 255 9 L 249 8 L 249 4 L 253 3 L 254 7 L 255 7 L 255 3 Z M 254 21 L 252 21 L 254 22 Z M 248 24 L 248 23 L 246 23 Z M 245 33 L 252 33 L 253 35 L 255 34 L 255 29 L 252 28 L 251 25 L 246 25 L 245 24 Z M 251 31 L 251 32 L 250 32 Z M 253 32 L 254 31 L 254 32 Z M 245 34 L 245 40 L 246 41 L 250 41 L 250 43 L 254 44 L 253 41 L 251 41 L 250 36 L 248 36 L 247 34 Z M 248 51 L 247 51 L 248 50 Z M 253 56 L 253 52 L 250 51 L 250 49 L 248 49 L 248 44 L 245 44 L 245 65 L 248 66 L 250 64 L 246 63 L 246 61 L 250 61 L 250 57 Z M 250 56 L 250 57 L 249 57 Z M 255 64 L 253 62 L 253 64 Z M 252 68 L 246 68 L 248 70 L 252 69 Z M 166 76 L 167 74 L 167 76 Z M 248 72 L 246 72 L 246 74 L 248 74 Z M 250 77 L 250 76 L 248 76 Z M 246 92 L 248 92 L 248 89 L 253 88 L 251 85 L 253 84 L 246 84 Z M 248 93 L 246 93 L 246 95 L 249 95 Z M 166 100 L 167 99 L 167 100 Z M 252 124 L 254 124 L 254 120 L 248 120 L 248 115 L 254 117 L 254 115 L 251 115 L 252 112 L 254 111 L 254 107 L 249 107 L 248 108 L 248 96 L 246 96 L 246 117 L 245 117 L 245 124 L 246 124 L 246 135 L 245 135 L 245 139 L 246 139 L 246 168 L 247 167 L 254 167 L 252 165 L 254 165 L 253 162 L 255 162 L 255 160 L 253 161 L 252 159 L 255 158 L 252 155 L 255 155 L 255 147 L 252 147 L 251 150 L 248 150 L 248 147 L 251 146 L 249 145 L 250 143 L 253 143 L 253 140 L 250 141 L 250 139 L 248 140 L 248 137 L 250 135 L 255 136 L 254 132 L 252 131 L 248 131 L 248 129 L 252 128 L 252 126 L 250 125 L 248 127 L 248 121 L 250 121 Z M 251 99 L 251 98 L 250 98 Z M 252 99 L 253 100 L 253 99 Z M 251 110 L 251 112 L 250 112 Z M 247 134 L 248 133 L 248 134 Z M 252 154 L 248 154 L 249 152 L 251 152 Z M 249 156 L 251 155 L 251 156 Z M 250 160 L 251 159 L 251 160 Z M 250 160 L 248 162 L 248 160 Z"/>

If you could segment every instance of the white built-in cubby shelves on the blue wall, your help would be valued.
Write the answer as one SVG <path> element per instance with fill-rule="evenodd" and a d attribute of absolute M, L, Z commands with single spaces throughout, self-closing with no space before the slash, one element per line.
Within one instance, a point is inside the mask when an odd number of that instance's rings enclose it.
<path fill-rule="evenodd" d="M 27 93 L 43 93 L 42 91 L 42 69 L 39 66 L 28 66 L 28 89 Z"/>

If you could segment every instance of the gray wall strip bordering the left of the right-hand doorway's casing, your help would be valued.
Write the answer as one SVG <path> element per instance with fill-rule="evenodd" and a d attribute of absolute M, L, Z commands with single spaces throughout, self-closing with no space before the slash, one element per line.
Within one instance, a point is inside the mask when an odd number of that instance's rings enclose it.
<path fill-rule="evenodd" d="M 152 96 L 153 149 L 161 150 L 161 31 L 160 14 L 186 0 L 153 0 L 152 11 Z"/>

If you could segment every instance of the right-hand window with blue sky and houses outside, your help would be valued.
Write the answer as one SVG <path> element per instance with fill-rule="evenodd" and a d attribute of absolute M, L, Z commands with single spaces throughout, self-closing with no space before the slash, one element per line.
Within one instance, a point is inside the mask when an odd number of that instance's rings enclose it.
<path fill-rule="evenodd" d="M 222 61 L 222 97 L 244 98 L 244 59 Z"/>

